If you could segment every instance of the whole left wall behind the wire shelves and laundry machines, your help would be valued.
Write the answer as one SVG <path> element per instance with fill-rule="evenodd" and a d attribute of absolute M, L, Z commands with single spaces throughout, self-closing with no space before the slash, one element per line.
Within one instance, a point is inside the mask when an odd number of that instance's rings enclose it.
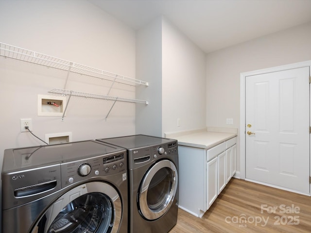
<path fill-rule="evenodd" d="M 0 1 L 0 42 L 135 78 L 135 31 L 87 1 Z M 65 121 L 37 116 L 37 95 L 63 88 L 67 72 L 0 56 L 0 167 L 3 150 L 42 143 L 20 133 L 32 118 L 33 133 L 72 132 L 74 141 L 135 133 L 135 104 L 72 97 Z M 107 94 L 111 83 L 69 75 L 68 88 Z M 110 93 L 135 98 L 135 87 L 115 84 Z"/>

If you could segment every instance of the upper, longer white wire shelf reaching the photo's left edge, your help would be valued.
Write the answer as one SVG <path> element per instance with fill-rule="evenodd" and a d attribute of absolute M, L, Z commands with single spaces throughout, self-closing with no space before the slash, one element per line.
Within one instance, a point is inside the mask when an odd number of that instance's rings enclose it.
<path fill-rule="evenodd" d="M 119 74 L 114 74 L 101 69 L 87 67 L 78 63 L 66 61 L 60 58 L 45 55 L 39 52 L 18 48 L 12 45 L 4 44 L 0 42 L 0 56 L 9 57 L 25 62 L 31 62 L 38 65 L 53 67 L 62 70 L 70 70 L 70 72 L 84 74 L 99 79 L 109 80 L 117 83 L 125 83 L 129 85 L 146 85 L 148 82 L 144 82 L 137 79 L 132 79 Z"/>

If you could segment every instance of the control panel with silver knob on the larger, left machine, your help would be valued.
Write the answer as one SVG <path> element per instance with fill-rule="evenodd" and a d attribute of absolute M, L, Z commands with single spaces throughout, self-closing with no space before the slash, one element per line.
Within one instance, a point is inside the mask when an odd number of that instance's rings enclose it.
<path fill-rule="evenodd" d="M 89 178 L 124 172 L 127 172 L 126 150 L 62 163 L 62 188 Z"/>

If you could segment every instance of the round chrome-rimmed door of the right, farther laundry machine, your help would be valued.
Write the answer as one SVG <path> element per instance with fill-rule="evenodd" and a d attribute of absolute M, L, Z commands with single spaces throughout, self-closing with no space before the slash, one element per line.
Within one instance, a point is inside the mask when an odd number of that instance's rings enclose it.
<path fill-rule="evenodd" d="M 139 213 L 148 220 L 163 216 L 172 206 L 178 184 L 177 168 L 160 160 L 144 175 L 138 190 Z"/>

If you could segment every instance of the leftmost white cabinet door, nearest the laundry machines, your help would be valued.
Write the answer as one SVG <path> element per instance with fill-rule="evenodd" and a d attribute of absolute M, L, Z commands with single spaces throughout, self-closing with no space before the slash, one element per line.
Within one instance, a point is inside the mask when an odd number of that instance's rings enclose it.
<path fill-rule="evenodd" d="M 218 196 L 217 157 L 207 162 L 207 209 Z"/>

